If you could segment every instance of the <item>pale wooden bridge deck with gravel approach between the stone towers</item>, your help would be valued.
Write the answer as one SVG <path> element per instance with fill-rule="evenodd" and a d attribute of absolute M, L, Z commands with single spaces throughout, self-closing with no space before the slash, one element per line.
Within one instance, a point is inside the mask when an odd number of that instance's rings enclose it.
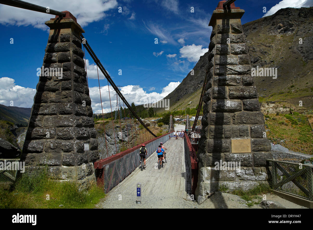
<path fill-rule="evenodd" d="M 186 202 L 183 200 L 187 196 L 183 139 L 172 138 L 164 147 L 167 148 L 167 163 L 163 164 L 163 168 L 157 168 L 157 156 L 154 152 L 146 159 L 146 169 L 141 171 L 137 168 L 126 177 L 107 194 L 104 203 L 100 204 L 101 207 L 180 207 L 179 203 Z M 141 182 L 142 204 L 136 204 L 138 182 Z"/>

